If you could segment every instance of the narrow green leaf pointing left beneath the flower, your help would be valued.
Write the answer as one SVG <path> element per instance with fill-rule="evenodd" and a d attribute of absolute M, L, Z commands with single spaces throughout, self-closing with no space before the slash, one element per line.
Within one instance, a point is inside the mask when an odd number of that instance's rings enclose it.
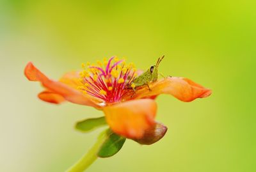
<path fill-rule="evenodd" d="M 77 122 L 76 129 L 81 132 L 90 132 L 106 124 L 107 123 L 104 116 L 100 118 L 89 118 L 89 119 Z"/>

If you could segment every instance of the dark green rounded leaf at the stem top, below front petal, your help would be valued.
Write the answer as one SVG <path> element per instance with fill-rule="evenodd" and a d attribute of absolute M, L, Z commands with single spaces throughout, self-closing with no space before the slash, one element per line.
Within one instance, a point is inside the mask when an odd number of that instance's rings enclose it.
<path fill-rule="evenodd" d="M 118 136 L 111 130 L 109 130 L 108 137 L 100 147 L 97 153 L 98 157 L 106 158 L 115 155 L 124 145 L 125 138 Z"/>

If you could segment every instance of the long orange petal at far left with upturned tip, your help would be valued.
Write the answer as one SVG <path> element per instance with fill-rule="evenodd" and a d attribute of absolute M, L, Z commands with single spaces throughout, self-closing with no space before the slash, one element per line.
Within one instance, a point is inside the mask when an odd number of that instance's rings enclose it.
<path fill-rule="evenodd" d="M 71 88 L 67 84 L 64 84 L 60 81 L 53 81 L 46 77 L 40 70 L 38 70 L 33 63 L 29 62 L 24 70 L 24 74 L 29 79 L 29 81 L 39 81 L 42 85 L 47 88 L 47 90 L 52 93 L 56 93 L 57 95 L 62 96 L 65 100 L 75 104 L 82 104 L 86 106 L 92 106 L 95 108 L 100 108 L 95 102 L 93 102 L 90 97 L 83 95 L 83 93 Z M 50 95 L 50 98 L 51 99 Z M 60 98 L 60 97 L 59 97 Z M 44 99 L 47 100 L 46 95 L 44 95 Z"/>

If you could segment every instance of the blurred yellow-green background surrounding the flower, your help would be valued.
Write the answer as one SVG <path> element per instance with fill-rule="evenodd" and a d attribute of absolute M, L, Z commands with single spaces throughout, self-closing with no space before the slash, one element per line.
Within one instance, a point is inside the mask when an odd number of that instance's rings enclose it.
<path fill-rule="evenodd" d="M 152 146 L 127 141 L 89 171 L 256 171 L 254 1 L 0 1 L 0 171 L 65 171 L 99 130 L 74 123 L 101 116 L 92 107 L 38 100 L 28 82 L 33 61 L 54 79 L 86 61 L 126 57 L 146 69 L 163 54 L 165 75 L 212 89 L 184 103 L 157 98 L 168 126 Z"/>

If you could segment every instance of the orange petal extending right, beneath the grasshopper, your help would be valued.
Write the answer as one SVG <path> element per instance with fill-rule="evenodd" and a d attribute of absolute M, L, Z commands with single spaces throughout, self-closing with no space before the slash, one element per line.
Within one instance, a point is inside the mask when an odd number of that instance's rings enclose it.
<path fill-rule="evenodd" d="M 195 98 L 204 98 L 211 95 L 211 90 L 182 77 L 166 77 L 150 84 L 151 91 L 147 86 L 136 90 L 133 98 L 156 98 L 159 94 L 170 94 L 184 102 L 191 102 Z"/>

